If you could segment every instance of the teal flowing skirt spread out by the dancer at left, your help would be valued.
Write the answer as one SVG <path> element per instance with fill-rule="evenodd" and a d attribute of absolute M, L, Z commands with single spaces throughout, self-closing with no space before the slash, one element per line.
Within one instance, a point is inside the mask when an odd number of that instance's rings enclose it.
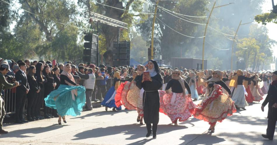
<path fill-rule="evenodd" d="M 77 96 L 72 99 L 71 90 L 77 89 Z M 52 91 L 44 100 L 45 105 L 57 109 L 60 116 L 80 115 L 86 102 L 85 87 L 60 85 L 58 89 Z"/>

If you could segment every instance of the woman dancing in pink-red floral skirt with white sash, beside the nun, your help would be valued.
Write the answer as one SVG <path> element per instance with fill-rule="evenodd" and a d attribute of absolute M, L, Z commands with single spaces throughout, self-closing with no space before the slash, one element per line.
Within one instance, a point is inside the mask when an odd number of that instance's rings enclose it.
<path fill-rule="evenodd" d="M 172 93 L 169 93 L 169 88 L 171 88 Z M 187 95 L 185 94 L 185 89 L 187 89 Z M 178 119 L 181 122 L 191 117 L 196 105 L 192 102 L 190 87 L 181 78 L 181 72 L 179 70 L 172 72 L 172 79 L 169 80 L 166 86 L 166 94 L 160 95 L 160 103 L 160 112 L 166 114 L 172 123 L 174 123 L 174 126 L 178 126 Z"/>

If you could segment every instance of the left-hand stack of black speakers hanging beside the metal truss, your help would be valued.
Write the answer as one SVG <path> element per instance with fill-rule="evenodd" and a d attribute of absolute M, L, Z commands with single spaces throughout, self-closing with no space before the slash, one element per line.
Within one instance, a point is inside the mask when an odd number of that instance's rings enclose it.
<path fill-rule="evenodd" d="M 84 40 L 87 41 L 84 43 L 85 49 L 83 50 L 83 61 L 90 62 L 97 65 L 98 57 L 98 35 L 95 34 L 86 34 Z"/>

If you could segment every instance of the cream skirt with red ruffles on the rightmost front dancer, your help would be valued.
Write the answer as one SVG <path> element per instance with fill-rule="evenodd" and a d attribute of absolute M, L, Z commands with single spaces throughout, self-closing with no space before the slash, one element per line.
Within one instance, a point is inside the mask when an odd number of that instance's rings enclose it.
<path fill-rule="evenodd" d="M 213 92 L 206 96 L 195 108 L 194 117 L 207 121 L 210 125 L 222 122 L 227 116 L 236 112 L 234 101 L 221 92 L 221 86 L 216 85 Z"/>

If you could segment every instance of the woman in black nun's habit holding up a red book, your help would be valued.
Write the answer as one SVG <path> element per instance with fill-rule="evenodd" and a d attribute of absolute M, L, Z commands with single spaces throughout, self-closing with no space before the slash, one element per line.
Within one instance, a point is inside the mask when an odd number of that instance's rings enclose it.
<path fill-rule="evenodd" d="M 148 61 L 147 73 L 143 73 L 136 82 L 137 87 L 143 87 L 143 120 L 147 127 L 146 137 L 153 132 L 153 139 L 157 138 L 157 127 L 159 123 L 159 92 L 162 87 L 162 76 L 159 66 L 155 60 Z M 151 129 L 151 123 L 153 127 Z"/>

